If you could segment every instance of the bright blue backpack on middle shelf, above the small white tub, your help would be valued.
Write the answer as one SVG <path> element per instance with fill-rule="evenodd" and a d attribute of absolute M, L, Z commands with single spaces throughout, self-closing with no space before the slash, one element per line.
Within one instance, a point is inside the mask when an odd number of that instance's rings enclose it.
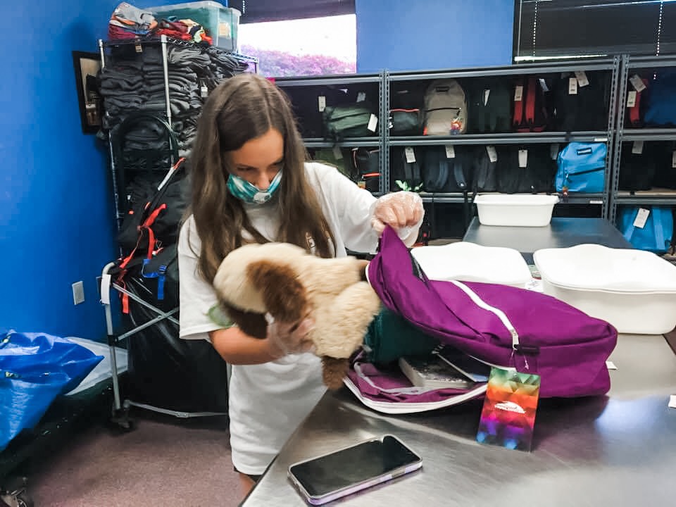
<path fill-rule="evenodd" d="M 606 143 L 572 142 L 558 154 L 556 192 L 598 194 L 606 186 Z"/>

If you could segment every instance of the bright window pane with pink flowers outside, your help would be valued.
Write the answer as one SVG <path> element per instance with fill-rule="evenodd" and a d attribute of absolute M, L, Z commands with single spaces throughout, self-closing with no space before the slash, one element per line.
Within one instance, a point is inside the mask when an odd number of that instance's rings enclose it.
<path fill-rule="evenodd" d="M 239 52 L 258 58 L 267 77 L 356 72 L 356 16 L 244 23 Z"/>

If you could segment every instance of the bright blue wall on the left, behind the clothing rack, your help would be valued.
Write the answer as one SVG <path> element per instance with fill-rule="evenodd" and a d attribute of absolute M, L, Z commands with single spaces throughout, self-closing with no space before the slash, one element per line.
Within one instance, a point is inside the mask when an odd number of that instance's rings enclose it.
<path fill-rule="evenodd" d="M 115 256 L 112 190 L 106 151 L 80 129 L 71 51 L 96 51 L 117 3 L 11 8 L 0 44 L 0 327 L 105 337 L 96 276 Z"/>

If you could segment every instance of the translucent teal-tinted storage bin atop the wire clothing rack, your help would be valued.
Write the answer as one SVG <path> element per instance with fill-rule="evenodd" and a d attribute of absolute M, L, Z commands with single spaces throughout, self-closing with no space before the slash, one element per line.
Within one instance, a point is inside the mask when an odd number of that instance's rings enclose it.
<path fill-rule="evenodd" d="M 192 19 L 206 30 L 206 35 L 213 39 L 213 45 L 226 51 L 237 52 L 237 32 L 239 30 L 239 16 L 236 8 L 226 7 L 215 1 L 188 2 L 168 6 L 149 7 L 158 18 L 176 16 L 178 19 Z"/>

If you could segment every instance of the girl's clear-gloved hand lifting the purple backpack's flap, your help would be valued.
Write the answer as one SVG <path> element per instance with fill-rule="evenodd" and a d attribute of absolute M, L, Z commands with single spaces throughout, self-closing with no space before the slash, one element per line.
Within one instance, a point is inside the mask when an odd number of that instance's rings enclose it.
<path fill-rule="evenodd" d="M 418 238 L 418 230 L 423 224 L 425 208 L 423 199 L 415 192 L 392 192 L 376 199 L 373 204 L 373 218 L 371 227 L 382 234 L 385 226 L 389 225 L 396 230 L 397 235 L 411 246 Z"/>

